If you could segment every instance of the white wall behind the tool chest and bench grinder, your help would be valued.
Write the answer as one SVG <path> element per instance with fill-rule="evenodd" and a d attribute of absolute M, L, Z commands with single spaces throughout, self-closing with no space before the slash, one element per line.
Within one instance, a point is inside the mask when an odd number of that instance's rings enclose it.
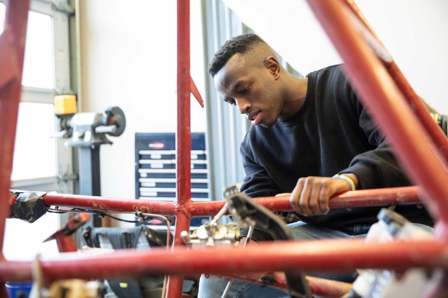
<path fill-rule="evenodd" d="M 204 94 L 199 0 L 191 0 L 191 75 Z M 176 132 L 176 1 L 80 0 L 83 112 L 120 107 L 125 132 L 101 147 L 102 196 L 133 199 L 134 134 Z M 192 97 L 193 98 L 193 97 Z M 191 100 L 191 130 L 205 132 L 205 109 Z"/>

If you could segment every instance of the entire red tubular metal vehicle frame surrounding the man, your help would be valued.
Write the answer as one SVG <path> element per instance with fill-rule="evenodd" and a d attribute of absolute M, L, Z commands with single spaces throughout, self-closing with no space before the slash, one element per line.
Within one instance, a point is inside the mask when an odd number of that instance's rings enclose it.
<path fill-rule="evenodd" d="M 84 256 L 61 253 L 55 259 L 41 260 L 46 282 L 65 278 L 137 278 L 148 274 L 169 276 L 166 297 L 177 298 L 182 294 L 182 278 L 192 274 L 209 273 L 227 275 L 249 281 L 256 280 L 260 271 L 351 271 L 357 268 L 407 269 L 411 267 L 448 269 L 448 141 L 440 134 L 426 108 L 410 87 L 395 63 L 378 60 L 371 49 L 355 31 L 346 10 L 368 26 L 352 0 L 308 0 L 339 55 L 347 75 L 371 112 L 380 129 L 396 149 L 397 157 L 410 177 L 419 185 L 377 190 L 360 190 L 339 194 L 331 199 L 331 208 L 383 206 L 393 203 L 423 202 L 432 216 L 439 221 L 437 241 L 410 241 L 389 243 L 364 243 L 362 240 L 316 240 L 279 242 L 275 250 L 268 243 L 244 248 L 208 247 L 188 249 L 183 246 L 180 232 L 188 230 L 193 216 L 215 215 L 224 202 L 192 202 L 190 171 L 190 93 L 195 93 L 190 76 L 190 2 L 178 0 L 178 129 L 177 145 L 177 199 L 171 202 L 121 200 L 93 196 L 44 195 L 47 205 L 99 209 L 105 211 L 143 211 L 176 216 L 174 246 L 148 250 L 122 250 L 104 255 Z M 348 4 L 348 6 L 347 6 Z M 23 64 L 23 43 L 26 28 L 28 1 L 6 1 L 6 26 L 0 38 L 0 65 L 9 66 L 0 75 L 0 192 L 8 194 L 12 166 L 12 148 L 15 131 L 4 129 L 17 120 L 20 97 L 20 71 Z M 346 9 L 349 7 L 349 9 Z M 8 33 L 9 32 L 9 33 Z M 375 36 L 376 37 L 376 36 Z M 355 51 L 356 55 L 352 55 Z M 4 57 L 16 53 L 16 62 Z M 14 79 L 13 79 L 14 78 Z M 198 99 L 199 100 L 199 99 Z M 406 102 L 408 100 L 408 102 Z M 199 102 L 201 102 L 199 100 Z M 407 104 L 413 108 L 409 108 Z M 414 115 L 414 113 L 416 115 Z M 417 118 L 418 116 L 418 118 Z M 420 119 L 421 123 L 418 121 Z M 2 129 L 3 128 L 3 129 Z M 425 131 L 425 129 L 427 131 Z M 413 138 L 418 135 L 419 139 Z M 440 152 L 438 151 L 440 150 Z M 420 195 L 422 193 L 422 196 Z M 291 210 L 287 195 L 256 198 L 258 203 L 272 211 Z M 12 201 L 12 200 L 11 200 Z M 9 217 L 7 200 L 0 200 L 0 244 L 4 233 L 4 219 Z M 235 251 L 235 249 L 237 251 Z M 231 255 L 231 261 L 229 257 Z M 31 262 L 5 261 L 0 255 L 0 280 L 27 281 L 32 278 Z M 349 262 L 347 261 L 349 260 Z M 235 275 L 235 268 L 238 273 Z M 285 287 L 282 275 L 275 274 L 277 284 Z M 347 285 L 333 281 L 309 278 L 313 293 L 337 297 Z M 6 296 L 1 289 L 0 296 Z M 336 292 L 335 292 L 336 291 Z M 331 294 L 333 293 L 333 294 Z M 337 293 L 337 294 L 335 294 Z"/>

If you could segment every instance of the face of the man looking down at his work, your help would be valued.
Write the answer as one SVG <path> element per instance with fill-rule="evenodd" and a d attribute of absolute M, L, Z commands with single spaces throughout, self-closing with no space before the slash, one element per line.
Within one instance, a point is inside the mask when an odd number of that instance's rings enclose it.
<path fill-rule="evenodd" d="M 282 104 L 279 83 L 262 62 L 235 54 L 214 79 L 224 101 L 236 105 L 252 125 L 271 127 L 277 121 Z"/>

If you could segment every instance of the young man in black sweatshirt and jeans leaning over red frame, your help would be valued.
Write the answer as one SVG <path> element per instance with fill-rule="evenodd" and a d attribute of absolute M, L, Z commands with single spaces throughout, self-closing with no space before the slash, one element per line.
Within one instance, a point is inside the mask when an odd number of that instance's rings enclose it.
<path fill-rule="evenodd" d="M 218 50 L 209 74 L 224 101 L 252 122 L 240 147 L 246 173 L 241 191 L 254 198 L 291 193 L 300 219 L 289 225 L 296 239 L 363 236 L 380 208 L 330 210 L 330 197 L 409 185 L 340 65 L 296 77 L 260 37 L 243 34 Z M 414 223 L 433 224 L 421 206 L 395 211 Z M 257 231 L 255 240 L 265 238 Z M 224 287 L 224 279 L 202 278 L 200 294 L 220 297 Z M 237 297 L 285 295 L 239 281 L 231 289 Z"/>

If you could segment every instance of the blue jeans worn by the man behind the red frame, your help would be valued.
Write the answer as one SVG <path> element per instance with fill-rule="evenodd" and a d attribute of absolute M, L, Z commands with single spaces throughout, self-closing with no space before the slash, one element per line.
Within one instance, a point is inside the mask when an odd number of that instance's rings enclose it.
<path fill-rule="evenodd" d="M 425 228 L 425 230 L 431 231 L 432 228 L 423 224 L 419 224 Z M 349 227 L 343 227 L 339 230 L 315 227 L 303 222 L 297 222 L 288 224 L 291 229 L 294 239 L 296 240 L 312 240 L 312 239 L 332 239 L 332 238 L 357 238 L 365 237 L 368 232 L 369 224 L 357 224 Z M 231 260 L 229 260 L 231 262 Z M 306 273 L 307 275 L 338 280 L 343 282 L 353 282 L 355 273 L 353 274 L 331 274 L 331 273 Z M 199 296 L 198 298 L 221 298 L 224 293 L 224 289 L 227 285 L 228 279 L 209 276 L 205 277 L 203 274 L 199 282 Z M 234 280 L 227 298 L 284 298 L 290 297 L 287 292 L 282 290 L 264 287 L 245 281 Z"/>

